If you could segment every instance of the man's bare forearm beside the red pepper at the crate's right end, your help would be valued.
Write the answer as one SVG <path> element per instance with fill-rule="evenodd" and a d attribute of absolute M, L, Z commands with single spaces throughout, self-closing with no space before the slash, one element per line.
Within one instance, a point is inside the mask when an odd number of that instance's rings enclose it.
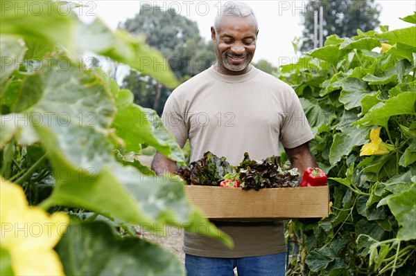
<path fill-rule="evenodd" d="M 291 161 L 292 167 L 297 167 L 297 171 L 300 176 L 308 167 L 318 167 L 318 164 L 313 158 L 311 151 L 309 151 L 308 143 L 304 143 L 293 149 L 284 149 L 288 155 L 289 161 Z"/>

